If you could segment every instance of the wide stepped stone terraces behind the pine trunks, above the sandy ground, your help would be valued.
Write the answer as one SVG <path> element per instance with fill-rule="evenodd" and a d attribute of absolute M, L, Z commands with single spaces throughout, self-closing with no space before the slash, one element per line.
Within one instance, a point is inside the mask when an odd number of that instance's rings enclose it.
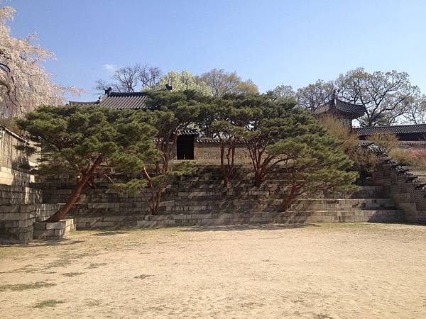
<path fill-rule="evenodd" d="M 171 225 L 232 225 L 253 223 L 397 222 L 403 211 L 383 186 L 361 186 L 354 194 L 298 198 L 283 212 L 288 183 L 277 169 L 262 186 L 253 186 L 252 168 L 237 167 L 230 186 L 222 187 L 220 167 L 199 166 L 195 174 L 168 186 L 155 216 L 141 194 L 129 195 L 107 185 L 85 189 L 72 209 L 77 229 L 111 227 L 165 227 Z M 72 189 L 61 181 L 43 191 L 45 203 L 63 203 Z M 146 194 L 149 196 L 149 194 Z"/>

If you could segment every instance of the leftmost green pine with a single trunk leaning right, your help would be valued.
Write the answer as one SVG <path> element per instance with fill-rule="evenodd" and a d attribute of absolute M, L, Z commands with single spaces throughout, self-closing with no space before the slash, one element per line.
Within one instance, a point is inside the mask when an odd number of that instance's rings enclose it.
<path fill-rule="evenodd" d="M 151 155 L 156 133 L 141 112 L 103 106 L 40 106 L 18 125 L 33 142 L 25 150 L 40 155 L 35 174 L 70 174 L 78 179 L 67 204 L 49 221 L 67 214 L 92 175 L 111 168 L 110 159 L 135 150 L 141 159 Z"/>

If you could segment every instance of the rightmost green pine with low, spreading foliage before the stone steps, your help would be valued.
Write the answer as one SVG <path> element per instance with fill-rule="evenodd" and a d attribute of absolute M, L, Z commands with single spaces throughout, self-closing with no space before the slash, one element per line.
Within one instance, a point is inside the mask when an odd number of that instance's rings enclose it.
<path fill-rule="evenodd" d="M 354 191 L 358 173 L 351 172 L 352 162 L 342 149 L 342 142 L 310 125 L 307 133 L 275 142 L 267 147 L 270 154 L 284 159 L 291 186 L 284 210 L 303 194 L 315 195 L 332 191 Z"/>

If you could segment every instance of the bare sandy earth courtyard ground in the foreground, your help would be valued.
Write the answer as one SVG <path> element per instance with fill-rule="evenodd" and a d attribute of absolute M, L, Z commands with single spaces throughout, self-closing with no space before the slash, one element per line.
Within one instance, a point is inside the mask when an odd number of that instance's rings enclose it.
<path fill-rule="evenodd" d="M 1 318 L 426 318 L 426 227 L 75 232 L 0 247 Z"/>

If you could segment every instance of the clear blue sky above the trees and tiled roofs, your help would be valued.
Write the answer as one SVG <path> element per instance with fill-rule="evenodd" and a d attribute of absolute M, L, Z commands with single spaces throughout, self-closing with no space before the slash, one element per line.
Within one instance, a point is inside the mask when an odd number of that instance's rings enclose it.
<path fill-rule="evenodd" d="M 213 68 L 253 79 L 260 91 L 334 79 L 356 67 L 408 72 L 426 92 L 423 0 L 11 0 L 15 36 L 37 32 L 58 57 L 55 82 L 97 98 L 111 66 L 164 72 Z"/>

